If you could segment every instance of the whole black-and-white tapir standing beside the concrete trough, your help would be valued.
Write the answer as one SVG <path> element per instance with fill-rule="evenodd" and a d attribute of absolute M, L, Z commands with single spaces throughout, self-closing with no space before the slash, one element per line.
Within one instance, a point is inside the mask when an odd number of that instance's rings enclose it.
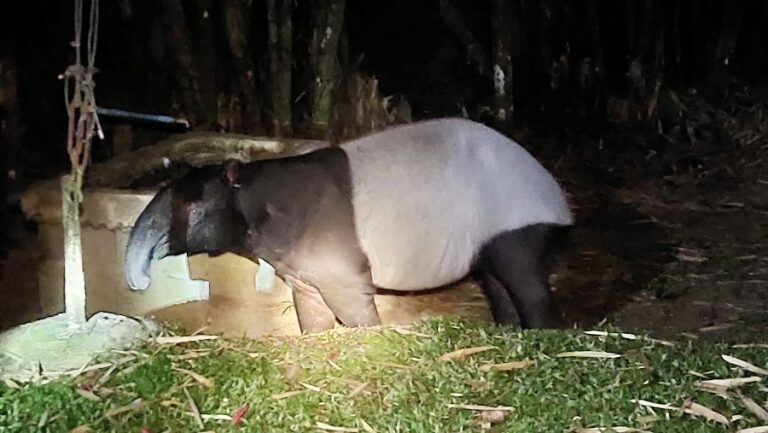
<path fill-rule="evenodd" d="M 558 327 L 547 251 L 571 225 L 561 186 L 523 147 L 471 120 L 434 119 L 189 169 L 139 215 L 124 275 L 144 290 L 151 261 L 167 255 L 261 258 L 292 288 L 303 332 L 379 324 L 378 289 L 470 276 L 496 323 Z"/>

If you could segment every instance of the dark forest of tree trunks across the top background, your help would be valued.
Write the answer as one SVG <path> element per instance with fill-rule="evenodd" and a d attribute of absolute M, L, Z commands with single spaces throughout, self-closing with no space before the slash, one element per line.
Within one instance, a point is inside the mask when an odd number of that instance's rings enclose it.
<path fill-rule="evenodd" d="M 26 1 L 0 14 L 10 183 L 67 168 L 57 76 L 73 61 L 72 8 Z M 759 97 L 767 21 L 757 0 L 103 1 L 96 96 L 198 130 L 338 141 L 468 116 L 559 137 L 537 150 L 550 155 L 600 147 L 617 128 L 619 153 L 663 153 L 695 141 L 692 104 Z M 119 126 L 102 122 L 97 161 L 113 155 Z M 130 143 L 168 133 L 135 125 Z"/>

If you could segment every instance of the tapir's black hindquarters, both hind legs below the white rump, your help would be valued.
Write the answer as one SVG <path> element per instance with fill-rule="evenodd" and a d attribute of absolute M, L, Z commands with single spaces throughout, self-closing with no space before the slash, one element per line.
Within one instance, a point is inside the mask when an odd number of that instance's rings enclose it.
<path fill-rule="evenodd" d="M 473 277 L 498 324 L 523 328 L 562 325 L 548 284 L 547 257 L 562 227 L 535 224 L 494 237 L 480 251 Z"/>

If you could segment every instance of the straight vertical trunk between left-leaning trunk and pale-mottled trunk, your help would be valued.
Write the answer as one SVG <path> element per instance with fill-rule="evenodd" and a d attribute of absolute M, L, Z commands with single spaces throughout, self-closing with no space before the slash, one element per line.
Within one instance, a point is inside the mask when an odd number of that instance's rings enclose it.
<path fill-rule="evenodd" d="M 278 137 L 293 134 L 293 0 L 267 0 L 272 128 Z"/>

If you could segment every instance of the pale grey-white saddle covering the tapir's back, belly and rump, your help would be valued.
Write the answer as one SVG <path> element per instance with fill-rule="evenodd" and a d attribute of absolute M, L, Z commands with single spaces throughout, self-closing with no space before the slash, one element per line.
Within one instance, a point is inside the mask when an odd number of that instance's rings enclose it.
<path fill-rule="evenodd" d="M 493 236 L 572 222 L 562 190 L 538 161 L 475 122 L 413 123 L 341 147 L 358 238 L 381 288 L 451 283 Z"/>

